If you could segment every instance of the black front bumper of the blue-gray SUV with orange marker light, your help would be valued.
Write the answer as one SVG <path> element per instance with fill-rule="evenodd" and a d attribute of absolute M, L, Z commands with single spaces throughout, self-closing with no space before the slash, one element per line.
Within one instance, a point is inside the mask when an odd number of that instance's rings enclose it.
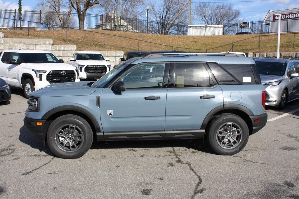
<path fill-rule="evenodd" d="M 36 140 L 39 142 L 43 142 L 45 140 L 43 133 L 45 121 L 46 120 L 37 120 L 29 117 L 24 118 L 24 125 L 29 129 L 29 131 L 34 133 Z M 37 122 L 42 122 L 42 125 L 36 125 Z"/>

